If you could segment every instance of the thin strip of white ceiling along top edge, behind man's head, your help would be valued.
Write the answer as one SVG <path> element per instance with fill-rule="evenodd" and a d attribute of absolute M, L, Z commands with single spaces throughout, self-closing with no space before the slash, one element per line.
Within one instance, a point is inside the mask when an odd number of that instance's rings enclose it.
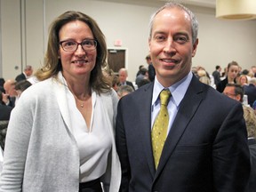
<path fill-rule="evenodd" d="M 141 4 L 141 5 L 163 5 L 163 2 L 169 0 L 105 0 L 109 2 L 124 3 L 124 4 Z M 181 4 L 189 4 L 195 6 L 215 8 L 216 0 L 176 0 Z"/>

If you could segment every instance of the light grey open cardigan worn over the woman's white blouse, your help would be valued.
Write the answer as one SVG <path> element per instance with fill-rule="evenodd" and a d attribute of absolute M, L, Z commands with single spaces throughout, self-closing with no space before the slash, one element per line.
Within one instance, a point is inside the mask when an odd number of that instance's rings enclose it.
<path fill-rule="evenodd" d="M 0 191 L 77 192 L 79 151 L 70 132 L 65 87 L 58 78 L 49 78 L 22 92 L 13 108 L 4 147 Z M 106 103 L 112 132 L 112 156 L 101 181 L 105 191 L 117 192 L 121 167 L 116 154 L 115 122 L 117 95 L 101 93 Z M 107 187 L 107 188 L 106 188 Z M 108 188 L 109 187 L 109 188 Z"/>

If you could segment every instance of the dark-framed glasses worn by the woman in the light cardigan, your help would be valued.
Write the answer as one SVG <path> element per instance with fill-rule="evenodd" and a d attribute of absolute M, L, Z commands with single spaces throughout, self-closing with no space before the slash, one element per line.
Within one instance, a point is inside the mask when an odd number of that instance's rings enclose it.
<path fill-rule="evenodd" d="M 94 39 L 84 39 L 81 43 L 77 43 L 73 40 L 61 41 L 60 45 L 65 52 L 76 52 L 78 45 L 81 45 L 83 50 L 92 51 L 97 47 L 97 41 Z"/>

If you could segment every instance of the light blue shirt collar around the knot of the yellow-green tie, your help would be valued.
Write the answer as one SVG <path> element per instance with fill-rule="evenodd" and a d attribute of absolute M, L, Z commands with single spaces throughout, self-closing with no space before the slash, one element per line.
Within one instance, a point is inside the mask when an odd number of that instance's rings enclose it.
<path fill-rule="evenodd" d="M 168 87 L 170 92 L 172 92 L 172 100 L 178 107 L 180 105 L 181 100 L 183 100 L 185 93 L 188 90 L 188 85 L 190 84 L 192 80 L 192 72 L 190 71 L 187 76 L 182 78 L 179 82 L 172 84 L 172 86 Z M 154 82 L 154 88 L 153 88 L 153 97 L 152 97 L 152 103 L 153 106 L 155 103 L 157 103 L 158 96 L 160 92 L 164 89 L 164 86 L 160 84 L 157 80 L 157 76 L 155 77 Z"/>

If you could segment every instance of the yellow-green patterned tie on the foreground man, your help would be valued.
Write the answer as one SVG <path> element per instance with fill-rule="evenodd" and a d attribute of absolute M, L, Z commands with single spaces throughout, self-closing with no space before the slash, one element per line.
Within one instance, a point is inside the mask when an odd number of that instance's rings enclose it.
<path fill-rule="evenodd" d="M 156 120 L 151 132 L 153 156 L 156 168 L 159 164 L 159 159 L 164 148 L 164 142 L 166 139 L 167 128 L 169 124 L 167 105 L 170 96 L 171 92 L 169 90 L 163 90 L 160 93 L 161 108 L 158 115 L 156 116 Z"/>

